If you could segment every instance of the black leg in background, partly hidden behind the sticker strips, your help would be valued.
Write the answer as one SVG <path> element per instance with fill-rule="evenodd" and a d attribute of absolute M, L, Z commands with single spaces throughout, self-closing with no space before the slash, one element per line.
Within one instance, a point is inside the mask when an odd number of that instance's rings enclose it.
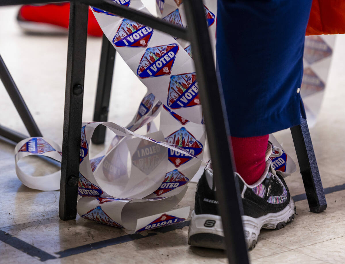
<path fill-rule="evenodd" d="M 112 75 L 114 72 L 116 49 L 103 34 L 101 61 L 99 63 L 98 84 L 93 121 L 108 121 L 109 101 Z M 105 126 L 96 127 L 92 135 L 92 143 L 103 144 L 106 134 Z"/>

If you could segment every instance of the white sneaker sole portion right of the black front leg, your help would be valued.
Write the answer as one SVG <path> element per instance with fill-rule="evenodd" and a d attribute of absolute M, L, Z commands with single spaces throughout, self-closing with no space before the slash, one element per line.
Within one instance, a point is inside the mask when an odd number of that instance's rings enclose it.
<path fill-rule="evenodd" d="M 288 222 L 292 222 L 295 218 L 295 214 L 295 202 L 292 197 L 290 197 L 289 204 L 282 211 L 277 213 L 268 213 L 258 218 L 242 216 L 247 248 L 253 249 L 255 247 L 261 228 L 275 230 L 283 228 Z"/>

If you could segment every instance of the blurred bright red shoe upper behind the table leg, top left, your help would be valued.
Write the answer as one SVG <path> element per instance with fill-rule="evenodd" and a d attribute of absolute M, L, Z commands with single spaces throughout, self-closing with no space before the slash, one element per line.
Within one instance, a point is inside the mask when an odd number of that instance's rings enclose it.
<path fill-rule="evenodd" d="M 42 6 L 24 5 L 19 10 L 19 16 L 27 21 L 42 22 L 68 28 L 69 3 L 45 4 Z M 102 36 L 103 32 L 89 8 L 88 34 Z"/>

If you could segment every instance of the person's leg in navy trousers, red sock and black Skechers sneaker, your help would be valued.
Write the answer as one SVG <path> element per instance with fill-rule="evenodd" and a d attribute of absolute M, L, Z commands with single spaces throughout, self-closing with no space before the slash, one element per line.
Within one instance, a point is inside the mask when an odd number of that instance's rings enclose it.
<path fill-rule="evenodd" d="M 298 125 L 301 114 L 305 117 L 299 88 L 311 2 L 218 0 L 218 70 L 248 248 L 255 246 L 262 227 L 279 229 L 294 218 L 294 201 L 269 159 L 276 154 L 268 134 Z M 207 167 L 197 186 L 191 245 L 225 247 L 215 190 L 213 171 Z"/>

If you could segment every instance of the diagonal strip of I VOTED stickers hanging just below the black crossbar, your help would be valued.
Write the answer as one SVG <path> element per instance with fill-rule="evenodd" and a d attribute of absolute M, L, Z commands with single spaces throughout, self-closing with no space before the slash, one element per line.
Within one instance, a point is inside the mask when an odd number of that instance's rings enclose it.
<path fill-rule="evenodd" d="M 130 8 L 149 13 L 140 0 L 131 0 L 127 4 Z M 202 110 L 194 62 L 184 47 L 168 34 L 92 10 L 109 41 L 148 91 L 178 115 L 201 124 Z M 175 17 L 177 14 L 171 14 L 169 21 Z"/>

